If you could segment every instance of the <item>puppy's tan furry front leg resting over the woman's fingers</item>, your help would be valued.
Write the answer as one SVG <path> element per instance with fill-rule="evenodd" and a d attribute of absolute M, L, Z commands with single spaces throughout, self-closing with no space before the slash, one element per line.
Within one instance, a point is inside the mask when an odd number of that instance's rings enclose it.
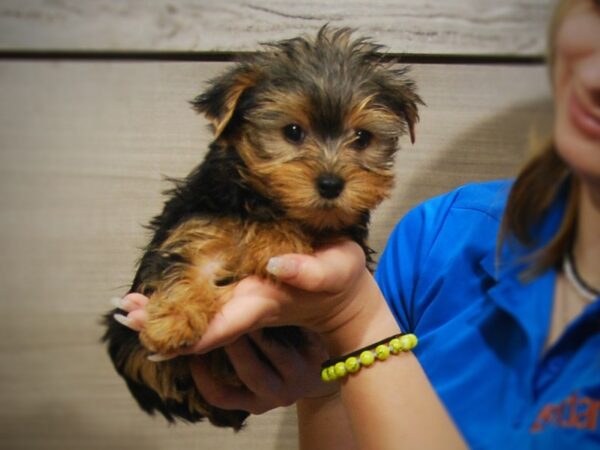
<path fill-rule="evenodd" d="M 233 287 L 239 258 L 239 224 L 190 219 L 156 251 L 173 261 L 144 288 L 152 294 L 140 340 L 149 351 L 170 354 L 198 341 Z"/>

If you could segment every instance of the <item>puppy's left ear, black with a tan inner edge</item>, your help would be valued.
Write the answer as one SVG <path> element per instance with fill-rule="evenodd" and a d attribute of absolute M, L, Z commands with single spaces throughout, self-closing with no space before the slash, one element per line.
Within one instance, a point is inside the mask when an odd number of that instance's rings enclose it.
<path fill-rule="evenodd" d="M 242 94 L 256 86 L 259 70 L 240 64 L 209 82 L 208 89 L 192 100 L 193 108 L 211 122 L 215 139 L 219 138 L 238 107 Z"/>

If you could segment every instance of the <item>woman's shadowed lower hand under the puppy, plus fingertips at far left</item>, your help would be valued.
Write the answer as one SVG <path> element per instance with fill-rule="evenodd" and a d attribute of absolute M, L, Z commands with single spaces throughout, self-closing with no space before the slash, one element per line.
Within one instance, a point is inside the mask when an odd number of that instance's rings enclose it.
<path fill-rule="evenodd" d="M 115 306 L 127 312 L 117 320 L 135 331 L 141 331 L 147 320 L 148 298 L 132 293 L 115 299 Z M 305 331 L 307 345 L 286 347 L 265 339 L 261 330 L 243 335 L 223 347 L 242 386 L 215 377 L 202 355 L 193 356 L 192 377 L 200 394 L 222 409 L 239 409 L 262 414 L 297 400 L 328 401 L 338 393 L 338 386 L 325 384 L 320 377 L 320 364 L 327 359 L 321 339 Z M 174 355 L 173 355 L 174 356 Z M 164 358 L 153 358 L 157 363 Z"/>

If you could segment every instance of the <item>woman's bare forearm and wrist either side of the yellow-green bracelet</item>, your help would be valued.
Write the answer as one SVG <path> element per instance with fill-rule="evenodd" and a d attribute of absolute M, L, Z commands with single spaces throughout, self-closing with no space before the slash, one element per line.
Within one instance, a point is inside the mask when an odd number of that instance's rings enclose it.
<path fill-rule="evenodd" d="M 342 355 L 401 331 L 372 280 L 362 295 L 365 307 L 325 336 L 330 354 Z M 466 447 L 412 353 L 377 361 L 338 382 L 358 448 Z"/>

